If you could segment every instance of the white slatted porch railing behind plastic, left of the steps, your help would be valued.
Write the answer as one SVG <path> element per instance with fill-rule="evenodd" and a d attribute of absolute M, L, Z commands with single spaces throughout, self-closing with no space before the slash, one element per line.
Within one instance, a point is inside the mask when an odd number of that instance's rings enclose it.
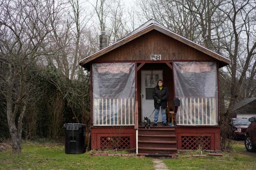
<path fill-rule="evenodd" d="M 134 125 L 134 98 L 94 98 L 93 123 L 100 126 Z"/>

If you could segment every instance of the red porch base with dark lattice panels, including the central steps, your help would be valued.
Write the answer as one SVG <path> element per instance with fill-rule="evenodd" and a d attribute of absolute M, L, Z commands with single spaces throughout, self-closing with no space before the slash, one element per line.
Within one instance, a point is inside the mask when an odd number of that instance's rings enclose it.
<path fill-rule="evenodd" d="M 178 150 L 220 149 L 219 127 L 92 127 L 92 149 L 136 150 L 138 155 L 171 156 Z M 117 146 L 118 144 L 118 146 Z"/>

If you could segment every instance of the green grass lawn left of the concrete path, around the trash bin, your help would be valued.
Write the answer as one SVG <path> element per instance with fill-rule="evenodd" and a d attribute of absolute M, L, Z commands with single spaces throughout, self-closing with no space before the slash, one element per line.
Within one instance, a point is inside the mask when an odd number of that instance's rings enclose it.
<path fill-rule="evenodd" d="M 154 170 L 150 158 L 92 157 L 88 153 L 65 154 L 63 145 L 25 143 L 22 153 L 13 154 L 12 149 L 0 152 L 0 170 Z"/>

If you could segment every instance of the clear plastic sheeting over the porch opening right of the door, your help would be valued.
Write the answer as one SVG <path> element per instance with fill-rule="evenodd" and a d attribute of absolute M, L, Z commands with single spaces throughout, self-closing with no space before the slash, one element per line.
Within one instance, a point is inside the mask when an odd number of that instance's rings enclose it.
<path fill-rule="evenodd" d="M 218 125 L 216 62 L 173 62 L 177 125 Z"/>

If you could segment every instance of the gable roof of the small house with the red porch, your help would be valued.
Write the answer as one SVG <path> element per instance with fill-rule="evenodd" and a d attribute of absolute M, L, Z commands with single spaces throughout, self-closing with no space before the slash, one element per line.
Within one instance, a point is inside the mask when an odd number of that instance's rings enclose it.
<path fill-rule="evenodd" d="M 112 50 L 116 49 L 117 47 L 120 47 L 121 45 L 124 45 L 125 43 L 128 43 L 128 42 L 134 40 L 135 38 L 138 38 L 139 36 L 146 34 L 147 32 L 150 32 L 151 30 L 157 30 L 159 32 L 162 32 L 163 34 L 165 34 L 175 40 L 178 40 L 179 42 L 185 43 L 186 45 L 189 45 L 190 47 L 197 49 L 198 51 L 201 51 L 202 53 L 205 53 L 205 54 L 219 60 L 220 67 L 230 64 L 229 59 L 219 55 L 218 53 L 215 53 L 214 51 L 211 51 L 210 49 L 207 49 L 206 47 L 203 47 L 202 45 L 192 42 L 191 40 L 188 40 L 187 38 L 184 38 L 184 37 L 176 34 L 175 32 L 172 32 L 167 27 L 161 25 L 154 19 L 150 19 L 149 21 L 147 21 L 146 23 L 144 23 L 143 25 L 141 25 L 137 29 L 135 29 L 133 32 L 127 34 L 121 40 L 109 45 L 108 47 L 105 47 L 104 49 L 97 51 L 96 53 L 89 55 L 88 57 L 85 57 L 85 58 L 79 60 L 79 64 L 83 66 L 87 62 L 90 62 L 90 61 L 108 53 L 109 51 L 112 51 Z"/>

